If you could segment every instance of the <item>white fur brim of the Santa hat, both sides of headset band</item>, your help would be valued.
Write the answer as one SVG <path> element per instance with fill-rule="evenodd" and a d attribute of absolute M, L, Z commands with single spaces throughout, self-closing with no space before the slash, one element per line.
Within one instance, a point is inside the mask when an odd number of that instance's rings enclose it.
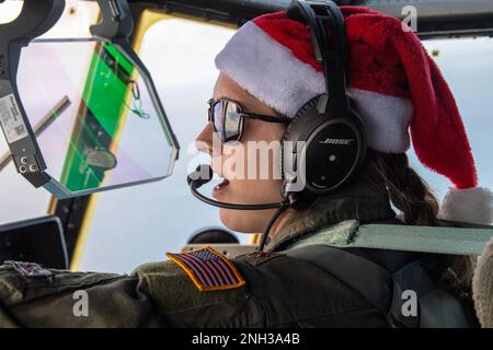
<path fill-rule="evenodd" d="M 297 59 L 253 22 L 245 23 L 216 57 L 216 67 L 253 96 L 287 117 L 325 91 L 323 73 Z M 386 153 L 405 152 L 410 100 L 348 89 L 368 133 L 368 144 Z"/>

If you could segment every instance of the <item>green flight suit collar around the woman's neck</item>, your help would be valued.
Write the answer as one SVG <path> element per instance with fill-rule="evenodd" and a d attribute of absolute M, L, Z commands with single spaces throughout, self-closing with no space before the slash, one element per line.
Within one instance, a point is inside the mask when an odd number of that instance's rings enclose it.
<path fill-rule="evenodd" d="M 383 186 L 358 179 L 339 191 L 319 197 L 308 209 L 288 219 L 274 237 L 267 237 L 266 252 L 282 250 L 322 229 L 347 220 L 362 223 L 395 219 Z"/>

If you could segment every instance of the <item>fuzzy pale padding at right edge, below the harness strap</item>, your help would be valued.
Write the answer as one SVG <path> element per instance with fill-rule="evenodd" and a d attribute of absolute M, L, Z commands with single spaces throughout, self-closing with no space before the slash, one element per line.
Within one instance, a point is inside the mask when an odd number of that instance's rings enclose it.
<path fill-rule="evenodd" d="M 474 269 L 472 298 L 481 327 L 493 328 L 493 238 Z"/>

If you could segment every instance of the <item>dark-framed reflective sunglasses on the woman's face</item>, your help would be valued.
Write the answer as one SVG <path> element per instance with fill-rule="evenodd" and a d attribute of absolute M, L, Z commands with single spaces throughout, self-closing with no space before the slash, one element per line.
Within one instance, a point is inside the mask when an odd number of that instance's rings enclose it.
<path fill-rule="evenodd" d="M 220 98 L 208 101 L 209 121 L 214 131 L 220 136 L 222 143 L 234 143 L 243 136 L 244 118 L 257 119 L 266 122 L 289 124 L 287 118 L 277 118 L 253 113 L 244 113 L 241 106 L 229 100 Z"/>

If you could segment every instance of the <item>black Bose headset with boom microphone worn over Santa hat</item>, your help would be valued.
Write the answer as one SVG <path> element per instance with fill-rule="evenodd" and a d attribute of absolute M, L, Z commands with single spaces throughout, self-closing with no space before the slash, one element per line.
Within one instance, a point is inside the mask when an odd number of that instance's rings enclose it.
<path fill-rule="evenodd" d="M 272 225 L 286 209 L 306 208 L 317 197 L 349 184 L 362 170 L 367 150 L 363 120 L 346 92 L 348 52 L 341 10 L 329 0 L 295 0 L 287 13 L 310 28 L 316 58 L 324 70 L 325 93 L 301 106 L 284 135 L 283 144 L 291 147 L 283 147 L 283 201 L 234 205 L 208 198 L 197 189 L 210 182 L 213 171 L 209 165 L 200 165 L 187 178 L 192 194 L 215 207 L 236 210 L 277 208 L 262 235 L 259 250 L 263 249 Z"/>

